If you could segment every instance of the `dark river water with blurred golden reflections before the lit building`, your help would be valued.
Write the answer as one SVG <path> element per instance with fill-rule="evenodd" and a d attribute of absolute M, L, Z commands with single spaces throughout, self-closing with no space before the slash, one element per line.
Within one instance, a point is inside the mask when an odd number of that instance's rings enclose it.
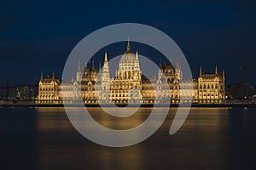
<path fill-rule="evenodd" d="M 116 128 L 135 126 L 150 111 L 117 123 L 90 110 Z M 80 135 L 63 108 L 1 108 L 0 169 L 256 169 L 256 109 L 193 108 L 169 135 L 175 110 L 142 143 L 109 148 Z"/>

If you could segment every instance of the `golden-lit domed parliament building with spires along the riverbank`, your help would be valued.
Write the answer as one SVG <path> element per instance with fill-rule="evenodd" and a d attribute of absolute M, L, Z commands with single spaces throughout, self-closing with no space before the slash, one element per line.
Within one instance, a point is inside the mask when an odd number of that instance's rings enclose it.
<path fill-rule="evenodd" d="M 213 74 L 203 74 L 193 80 L 183 80 L 183 72 L 177 63 L 162 65 L 160 61 L 158 77 L 143 77 L 138 54 L 131 52 L 130 42 L 125 54 L 119 60 L 119 68 L 114 77 L 110 77 L 108 55 L 99 71 L 92 61 L 91 68 L 80 65 L 76 80 L 61 82 L 53 77 L 41 77 L 39 82 L 38 104 L 72 104 L 82 97 L 84 104 L 115 103 L 158 103 L 171 99 L 172 103 L 219 103 L 224 99 L 224 72 L 217 67 Z"/>

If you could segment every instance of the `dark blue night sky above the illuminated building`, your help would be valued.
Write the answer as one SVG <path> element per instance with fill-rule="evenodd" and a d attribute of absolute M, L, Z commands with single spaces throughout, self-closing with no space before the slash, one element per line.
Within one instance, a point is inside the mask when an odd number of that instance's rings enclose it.
<path fill-rule="evenodd" d="M 62 69 L 73 47 L 103 26 L 154 26 L 177 42 L 194 77 L 200 65 L 225 70 L 227 83 L 256 82 L 254 1 L 6 1 L 0 3 L 0 85 L 37 83 Z"/>

